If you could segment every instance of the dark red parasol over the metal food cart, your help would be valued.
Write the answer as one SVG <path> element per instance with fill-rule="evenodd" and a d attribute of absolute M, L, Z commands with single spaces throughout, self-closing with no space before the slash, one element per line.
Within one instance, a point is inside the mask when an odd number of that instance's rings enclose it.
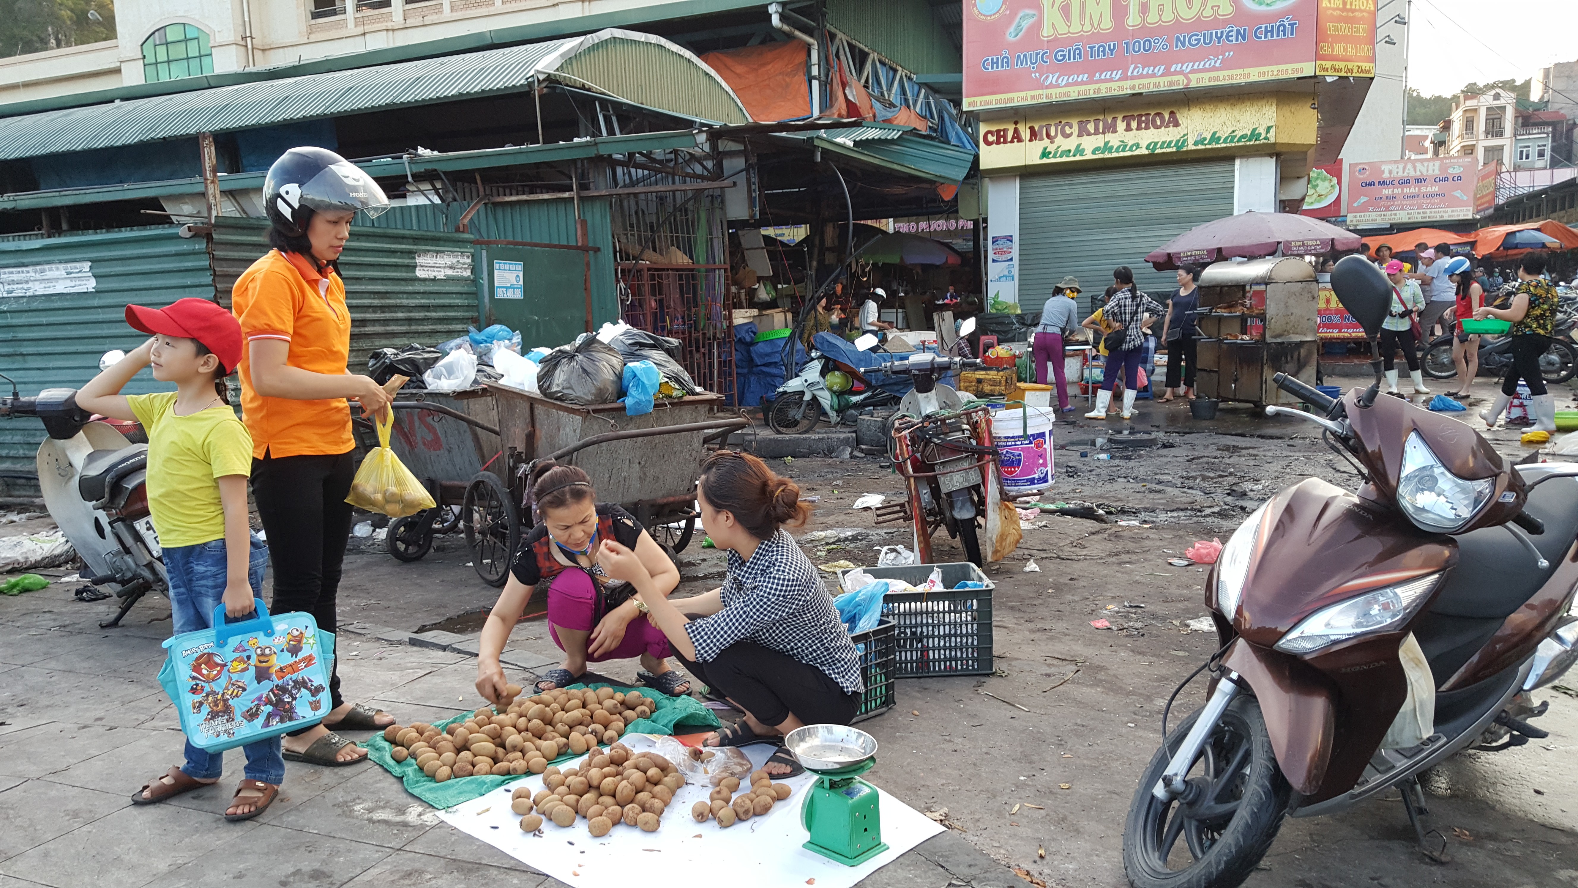
<path fill-rule="evenodd" d="M 1209 265 L 1242 256 L 1258 259 L 1280 248 L 1283 256 L 1310 256 L 1332 250 L 1359 250 L 1357 234 L 1297 213 L 1247 212 L 1198 224 L 1150 251 L 1146 261 L 1158 272 L 1182 264 Z"/>

